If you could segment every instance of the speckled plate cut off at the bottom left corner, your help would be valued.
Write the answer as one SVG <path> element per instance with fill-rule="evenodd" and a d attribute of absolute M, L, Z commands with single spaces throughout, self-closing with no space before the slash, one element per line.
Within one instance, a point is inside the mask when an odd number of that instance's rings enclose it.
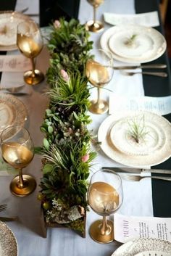
<path fill-rule="evenodd" d="M 17 256 L 17 241 L 11 229 L 0 221 L 0 256 Z"/>

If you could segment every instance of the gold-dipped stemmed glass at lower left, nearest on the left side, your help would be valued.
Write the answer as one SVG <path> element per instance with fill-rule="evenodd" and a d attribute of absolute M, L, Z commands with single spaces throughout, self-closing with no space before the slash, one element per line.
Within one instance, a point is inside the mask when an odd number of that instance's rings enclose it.
<path fill-rule="evenodd" d="M 12 194 L 25 197 L 36 189 L 36 181 L 32 176 L 22 175 L 34 156 L 33 141 L 28 130 L 19 126 L 11 126 L 1 133 L 1 154 L 5 162 L 19 171 L 19 176 L 10 183 Z"/>

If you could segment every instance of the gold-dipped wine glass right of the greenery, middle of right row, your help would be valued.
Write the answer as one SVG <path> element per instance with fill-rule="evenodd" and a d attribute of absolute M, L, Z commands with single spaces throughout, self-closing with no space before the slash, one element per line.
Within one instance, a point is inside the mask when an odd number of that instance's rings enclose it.
<path fill-rule="evenodd" d="M 90 58 L 86 62 L 86 76 L 92 86 L 97 87 L 97 100 L 91 101 L 90 112 L 104 114 L 109 110 L 109 104 L 101 99 L 101 88 L 106 86 L 113 76 L 113 57 L 111 52 L 102 49 L 94 49 L 90 52 Z"/>

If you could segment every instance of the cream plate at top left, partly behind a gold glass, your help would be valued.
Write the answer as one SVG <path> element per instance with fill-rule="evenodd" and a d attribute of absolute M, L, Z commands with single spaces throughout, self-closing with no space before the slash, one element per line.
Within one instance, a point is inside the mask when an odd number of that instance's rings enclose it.
<path fill-rule="evenodd" d="M 17 49 L 17 25 L 28 20 L 32 19 L 20 12 L 0 12 L 0 51 Z"/>

